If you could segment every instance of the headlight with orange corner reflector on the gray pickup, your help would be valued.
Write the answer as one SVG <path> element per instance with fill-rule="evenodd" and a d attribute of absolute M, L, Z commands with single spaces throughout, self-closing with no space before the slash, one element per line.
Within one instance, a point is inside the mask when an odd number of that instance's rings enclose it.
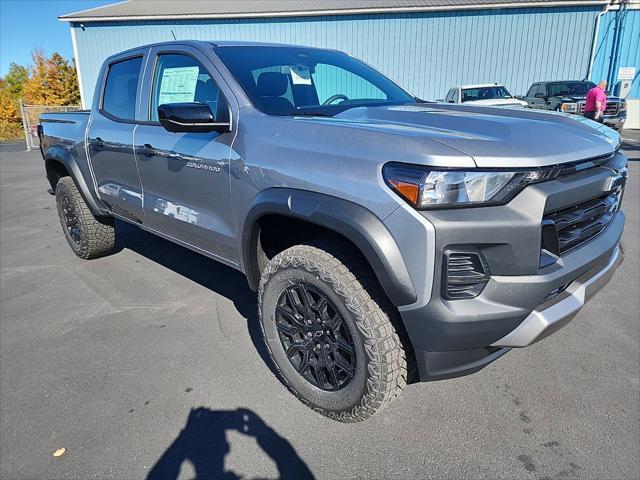
<path fill-rule="evenodd" d="M 388 163 L 382 175 L 398 195 L 418 209 L 502 205 L 525 186 L 558 171 L 450 170 Z"/>

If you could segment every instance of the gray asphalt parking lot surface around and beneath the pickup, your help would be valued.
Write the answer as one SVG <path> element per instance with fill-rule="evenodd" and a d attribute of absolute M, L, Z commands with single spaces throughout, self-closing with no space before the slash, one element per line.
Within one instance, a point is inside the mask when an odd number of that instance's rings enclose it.
<path fill-rule="evenodd" d="M 0 146 L 0 478 L 639 478 L 640 135 L 625 136 L 611 283 L 556 335 L 355 425 L 274 377 L 240 273 L 123 224 L 118 253 L 76 258 L 39 153 Z"/>

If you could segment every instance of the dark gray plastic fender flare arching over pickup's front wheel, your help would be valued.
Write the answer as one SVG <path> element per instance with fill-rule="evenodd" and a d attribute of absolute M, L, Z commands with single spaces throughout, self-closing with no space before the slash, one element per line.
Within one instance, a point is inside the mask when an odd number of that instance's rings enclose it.
<path fill-rule="evenodd" d="M 394 305 L 417 299 L 409 272 L 393 236 L 368 209 L 330 195 L 290 188 L 271 188 L 259 193 L 249 209 L 242 232 L 242 260 L 251 288 L 258 275 L 257 231 L 260 217 L 289 216 L 333 230 L 351 241 L 365 256 L 380 285 Z"/>

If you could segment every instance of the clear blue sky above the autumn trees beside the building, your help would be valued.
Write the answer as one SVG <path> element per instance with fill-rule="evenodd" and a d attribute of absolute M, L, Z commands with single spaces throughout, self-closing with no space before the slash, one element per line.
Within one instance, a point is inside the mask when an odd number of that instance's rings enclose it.
<path fill-rule="evenodd" d="M 11 62 L 31 63 L 31 51 L 73 58 L 69 24 L 58 15 L 100 7 L 117 0 L 0 0 L 0 76 Z"/>

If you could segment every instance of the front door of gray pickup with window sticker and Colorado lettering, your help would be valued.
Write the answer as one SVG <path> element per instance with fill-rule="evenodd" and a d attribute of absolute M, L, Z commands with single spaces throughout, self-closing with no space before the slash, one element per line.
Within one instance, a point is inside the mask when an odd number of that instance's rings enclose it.
<path fill-rule="evenodd" d="M 236 263 L 229 158 L 234 132 L 172 133 L 158 122 L 158 106 L 200 102 L 230 119 L 230 91 L 199 50 L 152 50 L 145 73 L 148 121 L 134 133 L 144 190 L 145 222 L 188 245 Z M 226 87 L 225 85 L 225 88 Z"/>

